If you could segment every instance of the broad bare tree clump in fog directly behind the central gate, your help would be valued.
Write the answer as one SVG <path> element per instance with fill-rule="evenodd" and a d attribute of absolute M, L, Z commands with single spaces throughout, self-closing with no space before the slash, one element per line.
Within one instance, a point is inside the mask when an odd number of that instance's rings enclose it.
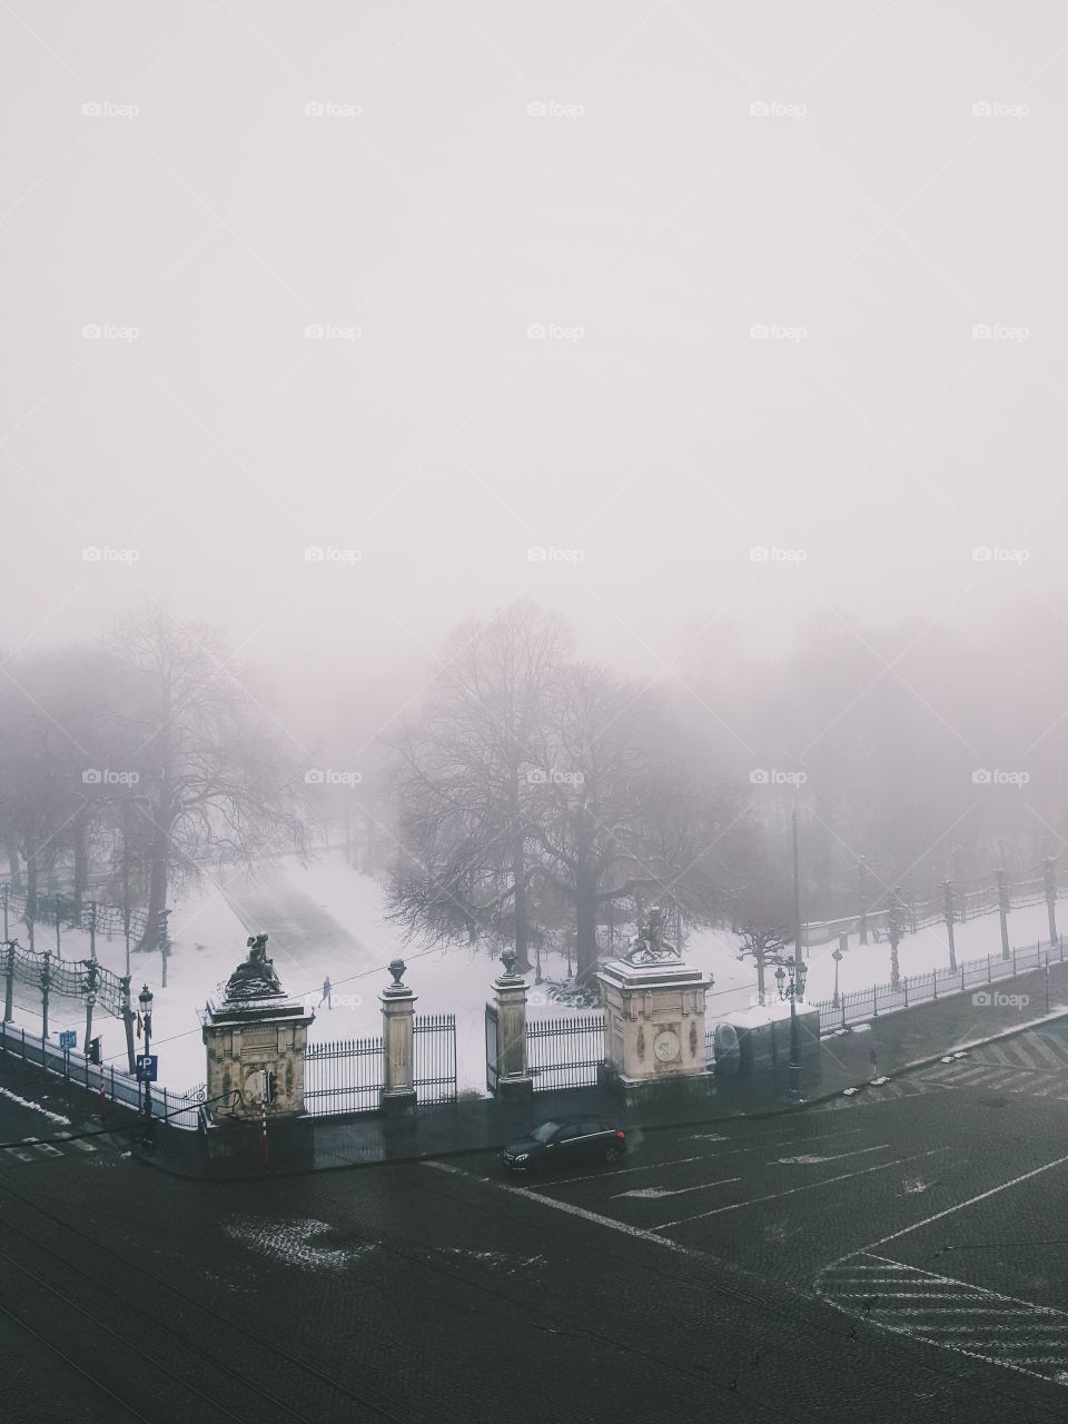
<path fill-rule="evenodd" d="M 682 765 L 659 699 L 567 661 L 568 645 L 531 604 L 457 634 L 396 739 L 392 907 L 412 933 L 511 938 L 524 970 L 533 900 L 548 917 L 564 907 L 588 980 L 621 907 L 656 899 L 678 923 L 708 921 L 735 809 Z"/>

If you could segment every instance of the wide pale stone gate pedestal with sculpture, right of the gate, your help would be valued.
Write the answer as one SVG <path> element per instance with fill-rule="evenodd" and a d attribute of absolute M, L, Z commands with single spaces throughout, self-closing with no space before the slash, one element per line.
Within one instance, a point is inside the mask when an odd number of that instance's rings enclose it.
<path fill-rule="evenodd" d="M 649 910 L 631 950 L 598 970 L 604 1000 L 605 1061 L 601 1082 L 628 1106 L 711 1091 L 705 1048 L 705 994 L 711 978 L 661 938 L 664 920 Z"/>

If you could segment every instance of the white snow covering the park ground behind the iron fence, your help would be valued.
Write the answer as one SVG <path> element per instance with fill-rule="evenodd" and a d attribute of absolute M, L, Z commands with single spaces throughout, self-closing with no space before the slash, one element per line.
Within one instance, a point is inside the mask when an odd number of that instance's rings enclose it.
<path fill-rule="evenodd" d="M 13 927 L 19 933 L 19 927 Z M 484 1004 L 500 964 L 486 947 L 468 950 L 453 947 L 406 946 L 384 918 L 382 886 L 357 874 L 345 863 L 340 852 L 328 852 L 322 859 L 300 866 L 295 860 L 272 862 L 256 879 L 232 871 L 225 881 L 206 884 L 187 894 L 171 914 L 174 951 L 168 964 L 168 985 L 159 987 L 159 957 L 134 956 L 134 993 L 144 981 L 155 994 L 152 1049 L 159 1054 L 159 1082 L 184 1089 L 204 1078 L 204 1045 L 198 1010 L 206 998 L 218 998 L 219 984 L 245 957 L 245 940 L 251 933 L 271 936 L 268 953 L 288 994 L 306 998 L 316 1010 L 310 1028 L 313 1041 L 357 1038 L 382 1030 L 379 994 L 390 983 L 386 965 L 403 958 L 409 965 L 406 983 L 419 995 L 417 1012 L 456 1014 L 457 1058 L 460 1089 L 483 1091 L 486 1084 Z M 1012 944 L 1020 948 L 1034 946 L 1047 936 L 1045 906 L 1014 910 L 1010 916 Z M 38 946 L 44 946 L 47 930 L 38 930 Z M 970 920 L 957 926 L 958 961 L 998 957 L 1001 938 L 997 914 Z M 830 998 L 834 983 L 836 946 L 826 944 L 809 951 L 807 998 Z M 98 938 L 100 960 L 117 973 L 124 973 L 121 940 Z M 64 931 L 63 954 L 80 958 L 88 954 L 88 937 Z M 918 974 L 948 963 L 944 926 L 933 926 L 900 944 L 903 974 Z M 749 1008 L 753 1002 L 756 980 L 750 961 L 738 960 L 738 941 L 723 930 L 703 930 L 693 934 L 685 947 L 688 963 L 705 970 L 713 978 L 709 995 L 709 1017 L 718 1018 L 732 1010 Z M 545 978 L 564 978 L 562 956 L 543 954 Z M 333 1008 L 323 1004 L 323 980 L 333 985 Z M 867 988 L 890 978 L 890 947 L 887 944 L 860 946 L 850 940 L 849 953 L 839 970 L 842 990 Z M 769 974 L 769 991 L 775 981 Z M 17 987 L 17 1022 L 40 1032 L 40 1002 L 36 994 Z M 571 1010 L 547 1000 L 538 988 L 531 988 L 533 1014 L 564 1015 Z M 50 1030 L 74 1028 L 83 1047 L 84 1010 L 80 1002 L 53 997 Z M 94 1031 L 104 1040 L 105 1059 L 125 1062 L 122 1024 L 97 1014 Z"/>

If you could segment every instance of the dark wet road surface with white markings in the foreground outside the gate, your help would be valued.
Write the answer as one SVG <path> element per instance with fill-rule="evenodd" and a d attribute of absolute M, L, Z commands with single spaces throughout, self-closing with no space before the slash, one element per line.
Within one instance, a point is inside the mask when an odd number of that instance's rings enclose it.
<path fill-rule="evenodd" d="M 4 1085 L 19 1088 L 11 1077 Z M 77 1125 L 75 1125 L 77 1129 Z M 1068 1037 L 615 1171 L 490 1155 L 256 1185 L 21 1143 L 0 1096 L 13 1420 L 947 1421 L 1068 1405 Z"/>

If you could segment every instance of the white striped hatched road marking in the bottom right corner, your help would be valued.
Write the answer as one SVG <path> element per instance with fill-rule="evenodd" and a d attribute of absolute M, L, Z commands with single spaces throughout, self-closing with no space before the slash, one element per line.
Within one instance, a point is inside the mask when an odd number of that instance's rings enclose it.
<path fill-rule="evenodd" d="M 1068 1381 L 1068 1314 L 904 1262 L 859 1252 L 826 1267 L 817 1290 L 869 1324 L 991 1364 Z"/>

